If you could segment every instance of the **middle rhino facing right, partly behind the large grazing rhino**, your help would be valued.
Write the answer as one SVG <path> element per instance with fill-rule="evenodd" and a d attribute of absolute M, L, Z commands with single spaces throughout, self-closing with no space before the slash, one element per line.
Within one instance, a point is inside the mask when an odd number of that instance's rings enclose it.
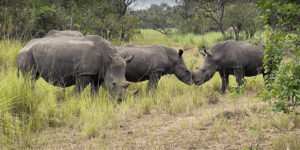
<path fill-rule="evenodd" d="M 147 92 L 157 88 L 159 79 L 166 74 L 175 76 L 185 84 L 192 84 L 192 71 L 182 59 L 183 51 L 179 53 L 165 46 L 138 47 L 127 45 L 117 47 L 122 58 L 134 55 L 134 59 L 126 67 L 125 77 L 130 82 L 149 80 Z"/>

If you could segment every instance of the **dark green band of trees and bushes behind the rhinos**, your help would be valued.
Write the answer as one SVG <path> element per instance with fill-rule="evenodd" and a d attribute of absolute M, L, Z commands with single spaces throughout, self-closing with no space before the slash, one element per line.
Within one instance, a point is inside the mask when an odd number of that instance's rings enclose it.
<path fill-rule="evenodd" d="M 128 41 L 140 28 L 167 36 L 220 31 L 225 37 L 252 37 L 262 10 L 255 0 L 175 0 L 176 6 L 152 4 L 136 10 L 138 0 L 2 0 L 1 38 L 26 41 L 43 37 L 49 30 L 80 30 L 111 41 Z M 272 24 L 272 19 L 270 20 Z M 273 23 L 274 24 L 274 23 Z M 175 30 L 174 30 L 175 29 Z"/>

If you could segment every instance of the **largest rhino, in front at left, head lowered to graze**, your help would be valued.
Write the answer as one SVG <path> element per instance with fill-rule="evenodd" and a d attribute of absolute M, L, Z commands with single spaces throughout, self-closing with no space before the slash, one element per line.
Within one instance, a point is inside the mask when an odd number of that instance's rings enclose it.
<path fill-rule="evenodd" d="M 104 83 L 113 98 L 121 99 L 129 86 L 125 79 L 126 62 L 132 58 L 122 59 L 110 42 L 97 35 L 51 35 L 33 39 L 23 47 L 17 65 L 25 81 L 31 79 L 32 88 L 42 77 L 58 87 L 76 85 L 76 94 L 91 84 L 94 95 Z"/>

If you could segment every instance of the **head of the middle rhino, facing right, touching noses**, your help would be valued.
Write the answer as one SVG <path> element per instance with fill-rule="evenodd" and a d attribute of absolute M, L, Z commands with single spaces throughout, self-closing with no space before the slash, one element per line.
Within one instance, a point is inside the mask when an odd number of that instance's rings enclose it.
<path fill-rule="evenodd" d="M 175 76 L 187 85 L 191 85 L 192 82 L 192 70 L 187 68 L 182 58 L 183 50 L 179 50 L 177 61 L 174 64 L 174 74 Z"/>

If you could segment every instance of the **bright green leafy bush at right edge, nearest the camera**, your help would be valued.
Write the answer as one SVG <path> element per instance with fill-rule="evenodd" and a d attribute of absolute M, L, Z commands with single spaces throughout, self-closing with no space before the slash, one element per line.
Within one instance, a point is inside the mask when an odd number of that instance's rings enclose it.
<path fill-rule="evenodd" d="M 275 75 L 268 77 L 266 86 L 272 89 L 263 91 L 261 98 L 263 101 L 272 102 L 273 111 L 276 113 L 280 111 L 290 113 L 300 105 L 300 3 L 298 1 L 259 0 L 258 6 L 268 12 L 263 15 L 266 24 L 270 13 L 276 13 L 278 16 L 276 31 L 272 31 L 268 25 L 265 26 L 267 31 L 264 53 L 273 56 L 265 56 L 265 70 L 274 71 Z M 283 56 L 291 49 L 293 59 L 282 63 Z M 288 107 L 289 104 L 293 107 Z"/>

